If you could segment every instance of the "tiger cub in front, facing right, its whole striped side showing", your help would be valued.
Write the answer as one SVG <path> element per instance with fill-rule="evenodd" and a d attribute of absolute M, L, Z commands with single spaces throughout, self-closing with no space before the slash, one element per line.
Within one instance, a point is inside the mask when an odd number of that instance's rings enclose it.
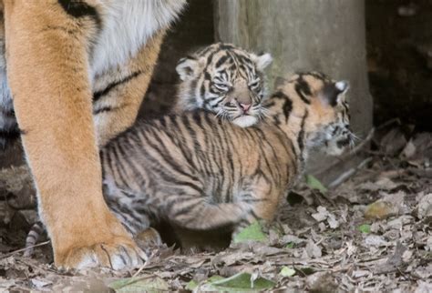
<path fill-rule="evenodd" d="M 256 126 L 207 111 L 133 126 L 100 152 L 108 207 L 132 235 L 158 219 L 234 231 L 271 221 L 312 148 L 340 155 L 353 144 L 347 89 L 321 73 L 297 74 L 265 102 L 270 116 Z"/>

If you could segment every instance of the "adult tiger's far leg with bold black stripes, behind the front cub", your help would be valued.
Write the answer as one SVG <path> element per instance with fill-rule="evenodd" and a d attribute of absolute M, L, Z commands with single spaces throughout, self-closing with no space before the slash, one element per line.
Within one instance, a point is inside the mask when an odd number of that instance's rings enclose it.
<path fill-rule="evenodd" d="M 128 64 L 97 78 L 93 114 L 99 146 L 104 146 L 109 139 L 135 122 L 158 60 L 164 35 L 165 30 L 160 30 Z M 107 83 L 106 79 L 110 82 Z M 103 85 L 99 86 L 99 83 Z"/>

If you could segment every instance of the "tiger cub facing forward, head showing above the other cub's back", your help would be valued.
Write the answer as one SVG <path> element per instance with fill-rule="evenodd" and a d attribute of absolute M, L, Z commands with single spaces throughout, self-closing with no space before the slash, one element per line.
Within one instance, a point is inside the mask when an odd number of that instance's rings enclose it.
<path fill-rule="evenodd" d="M 270 54 L 257 56 L 231 44 L 213 44 L 180 59 L 176 112 L 203 108 L 247 127 L 265 114 L 264 69 Z"/>

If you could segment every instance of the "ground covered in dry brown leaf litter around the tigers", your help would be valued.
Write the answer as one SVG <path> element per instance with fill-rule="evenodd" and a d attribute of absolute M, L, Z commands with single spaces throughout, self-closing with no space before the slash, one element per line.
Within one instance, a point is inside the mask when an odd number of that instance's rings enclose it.
<path fill-rule="evenodd" d="M 432 291 L 432 134 L 397 121 L 327 190 L 314 177 L 220 252 L 148 249 L 139 270 L 59 272 L 49 243 L 23 257 L 36 220 L 25 167 L 0 172 L 0 291 Z M 351 159 L 352 157 L 345 157 Z M 353 173 L 355 173 L 353 175 Z M 252 240 L 255 239 L 255 240 Z"/>

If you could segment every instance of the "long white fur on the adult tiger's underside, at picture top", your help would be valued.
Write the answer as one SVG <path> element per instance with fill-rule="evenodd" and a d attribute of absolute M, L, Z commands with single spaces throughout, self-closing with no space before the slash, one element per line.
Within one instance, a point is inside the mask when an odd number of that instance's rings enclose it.
<path fill-rule="evenodd" d="M 90 59 L 92 76 L 135 56 L 151 36 L 176 19 L 185 5 L 186 0 L 105 0 L 102 32 Z"/>

